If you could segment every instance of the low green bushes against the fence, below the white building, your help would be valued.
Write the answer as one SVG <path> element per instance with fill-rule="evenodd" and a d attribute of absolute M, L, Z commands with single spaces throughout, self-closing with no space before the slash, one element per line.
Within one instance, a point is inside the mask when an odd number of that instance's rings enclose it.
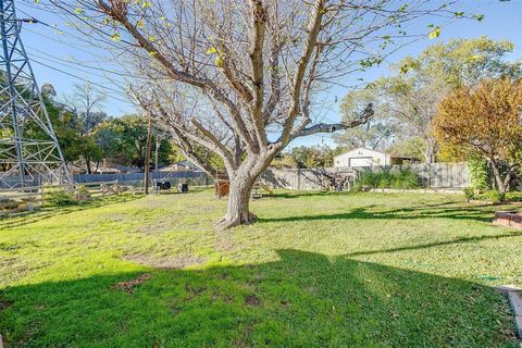
<path fill-rule="evenodd" d="M 419 177 L 409 169 L 399 172 L 371 172 L 366 171 L 361 173 L 356 182 L 355 188 L 361 190 L 363 187 L 369 188 L 418 188 Z"/>

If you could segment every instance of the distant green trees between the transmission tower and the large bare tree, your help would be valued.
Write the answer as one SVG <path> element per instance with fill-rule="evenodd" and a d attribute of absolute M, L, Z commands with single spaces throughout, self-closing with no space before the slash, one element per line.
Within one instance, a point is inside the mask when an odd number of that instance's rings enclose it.
<path fill-rule="evenodd" d="M 52 85 L 46 84 L 42 97 L 67 164 L 89 174 L 103 163 L 144 170 L 147 117 L 109 116 L 103 111 L 103 95 L 89 84 L 75 85 L 72 95 L 63 100 Z M 151 139 L 151 169 L 184 159 L 172 146 L 169 133 L 154 127 Z"/>

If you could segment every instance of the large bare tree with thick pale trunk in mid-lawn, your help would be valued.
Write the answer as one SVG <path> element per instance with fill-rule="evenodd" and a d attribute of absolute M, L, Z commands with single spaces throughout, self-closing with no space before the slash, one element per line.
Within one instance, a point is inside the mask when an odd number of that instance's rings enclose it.
<path fill-rule="evenodd" d="M 223 227 L 254 219 L 252 186 L 293 139 L 351 128 L 374 113 L 370 103 L 352 120 L 314 124 L 318 96 L 425 35 L 406 35 L 407 23 L 455 16 L 448 3 L 428 0 L 51 2 L 134 65 L 133 96 L 189 160 L 215 174 L 195 145 L 223 159 L 231 181 Z"/>

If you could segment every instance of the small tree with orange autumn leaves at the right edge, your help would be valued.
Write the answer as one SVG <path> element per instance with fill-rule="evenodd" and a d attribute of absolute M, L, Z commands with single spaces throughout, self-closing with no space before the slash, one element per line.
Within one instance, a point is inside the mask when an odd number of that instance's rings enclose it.
<path fill-rule="evenodd" d="M 522 79 L 490 79 L 449 94 L 435 117 L 439 141 L 480 153 L 506 192 L 522 158 Z"/>

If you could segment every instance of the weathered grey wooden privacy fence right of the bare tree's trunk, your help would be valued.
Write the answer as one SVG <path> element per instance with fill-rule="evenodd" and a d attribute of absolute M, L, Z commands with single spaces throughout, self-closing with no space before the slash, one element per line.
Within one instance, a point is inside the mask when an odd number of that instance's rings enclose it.
<path fill-rule="evenodd" d="M 366 167 L 325 167 L 325 169 L 269 169 L 262 176 L 263 184 L 274 188 L 298 190 L 326 189 L 338 176 L 350 182 L 364 171 L 400 171 L 410 169 L 419 176 L 421 187 L 464 188 L 470 186 L 470 172 L 467 163 L 419 163 L 408 165 L 376 165 Z"/>

